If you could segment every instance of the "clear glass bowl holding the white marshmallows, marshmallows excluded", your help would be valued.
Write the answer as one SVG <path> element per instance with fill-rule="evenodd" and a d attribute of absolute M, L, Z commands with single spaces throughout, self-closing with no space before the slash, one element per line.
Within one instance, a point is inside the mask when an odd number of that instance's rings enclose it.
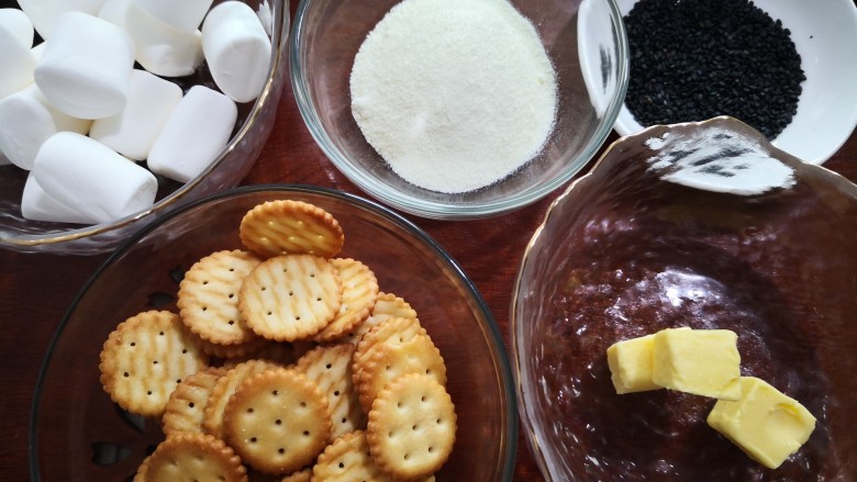
<path fill-rule="evenodd" d="M 232 139 L 208 169 L 186 183 L 159 177 L 156 202 L 151 208 L 110 223 L 85 226 L 24 218 L 21 193 L 29 172 L 12 165 L 0 166 L 0 248 L 69 255 L 107 253 L 169 210 L 237 186 L 258 159 L 274 128 L 288 69 L 290 26 L 288 0 L 246 0 L 246 3 L 260 15 L 270 13 L 271 66 L 259 97 L 252 103 L 238 104 L 238 122 Z M 210 76 L 200 77 L 176 81 L 186 89 L 197 81 L 216 89 Z"/>

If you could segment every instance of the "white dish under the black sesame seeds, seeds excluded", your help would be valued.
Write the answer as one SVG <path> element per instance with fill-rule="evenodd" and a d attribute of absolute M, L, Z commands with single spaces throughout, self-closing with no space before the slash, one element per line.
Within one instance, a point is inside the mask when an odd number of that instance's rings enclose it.
<path fill-rule="evenodd" d="M 622 15 L 637 1 L 617 0 Z M 857 7 L 853 0 L 753 3 L 789 29 L 806 75 L 798 112 L 771 144 L 805 162 L 822 164 L 836 154 L 857 126 Z M 600 66 L 585 69 L 597 72 Z M 614 127 L 620 135 L 643 128 L 624 104 Z"/>

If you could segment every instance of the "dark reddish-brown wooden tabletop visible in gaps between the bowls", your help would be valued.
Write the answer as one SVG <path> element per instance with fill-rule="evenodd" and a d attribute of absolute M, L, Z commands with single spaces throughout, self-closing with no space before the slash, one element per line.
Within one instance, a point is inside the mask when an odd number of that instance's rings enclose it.
<path fill-rule="evenodd" d="M 616 138 L 612 134 L 608 146 Z M 594 160 L 593 160 L 594 161 Z M 590 164 L 591 165 L 591 164 Z M 825 167 L 857 180 L 857 135 Z M 365 195 L 324 157 L 286 87 L 277 124 L 244 183 L 309 183 Z M 509 333 L 509 303 L 524 246 L 542 221 L 546 199 L 520 211 L 480 221 L 441 222 L 409 216 L 458 261 Z M 68 257 L 0 249 L 0 479 L 24 481 L 30 404 L 45 349 L 88 277 L 107 255 Z M 523 437 L 519 438 L 516 481 L 541 481 Z"/>

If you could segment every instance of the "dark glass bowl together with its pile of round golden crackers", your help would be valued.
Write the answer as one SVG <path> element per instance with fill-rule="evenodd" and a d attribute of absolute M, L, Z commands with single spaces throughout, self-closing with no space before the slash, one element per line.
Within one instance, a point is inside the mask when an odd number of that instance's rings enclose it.
<path fill-rule="evenodd" d="M 30 456 L 33 480 L 511 480 L 516 429 L 502 336 L 436 242 L 353 194 L 253 186 L 97 270 Z"/>

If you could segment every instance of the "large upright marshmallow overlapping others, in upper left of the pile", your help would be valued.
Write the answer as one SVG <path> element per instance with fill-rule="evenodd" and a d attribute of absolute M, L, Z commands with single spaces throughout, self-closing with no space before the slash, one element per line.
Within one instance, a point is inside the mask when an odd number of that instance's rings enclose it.
<path fill-rule="evenodd" d="M 54 107 L 79 119 L 113 115 L 125 107 L 134 44 L 97 16 L 64 13 L 35 68 L 35 82 Z"/>

